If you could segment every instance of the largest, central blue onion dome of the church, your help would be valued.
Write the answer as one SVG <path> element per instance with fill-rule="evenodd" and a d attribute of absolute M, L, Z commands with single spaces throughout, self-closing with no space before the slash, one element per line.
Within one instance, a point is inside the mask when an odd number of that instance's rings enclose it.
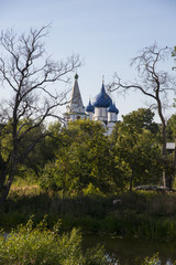
<path fill-rule="evenodd" d="M 95 103 L 92 104 L 94 107 L 109 107 L 112 105 L 112 99 L 106 93 L 105 86 L 102 84 L 101 92 L 96 96 Z"/>

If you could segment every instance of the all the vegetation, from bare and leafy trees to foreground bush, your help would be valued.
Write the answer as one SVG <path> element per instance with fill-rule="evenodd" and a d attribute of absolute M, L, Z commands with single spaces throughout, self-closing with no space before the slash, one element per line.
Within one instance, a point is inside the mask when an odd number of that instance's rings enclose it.
<path fill-rule="evenodd" d="M 76 120 L 66 128 L 61 121 L 44 124 L 67 102 L 66 92 L 54 95 L 46 84 L 61 77 L 67 83 L 80 64 L 75 56 L 59 63 L 46 57 L 42 64 L 47 32 L 44 26 L 19 39 L 9 31 L 0 35 L 6 51 L 0 80 L 12 91 L 0 104 L 0 227 L 14 229 L 7 241 L 1 233 L 0 264 L 108 264 L 102 248 L 81 251 L 80 230 L 175 240 L 176 153 L 166 151 L 166 141 L 176 139 L 176 116 L 166 123 L 163 115 L 173 81 L 156 68 L 168 50 L 154 44 L 133 60 L 142 83 L 124 85 L 117 77 L 113 84 L 154 99 L 162 125 L 151 109 L 140 108 L 123 116 L 108 137 L 100 121 Z M 160 187 L 162 174 L 173 193 L 135 190 Z"/>

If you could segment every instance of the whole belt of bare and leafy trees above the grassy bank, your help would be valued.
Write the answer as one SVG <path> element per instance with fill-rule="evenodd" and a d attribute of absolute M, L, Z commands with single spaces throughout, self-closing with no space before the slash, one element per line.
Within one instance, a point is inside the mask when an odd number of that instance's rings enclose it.
<path fill-rule="evenodd" d="M 161 184 L 162 171 L 172 188 L 176 162 L 166 155 L 162 95 L 173 83 L 165 72 L 155 68 L 166 57 L 167 49 L 154 44 L 133 60 L 144 87 L 114 84 L 118 88 L 139 88 L 155 99 L 162 128 L 154 123 L 150 109 L 138 109 L 123 116 L 109 138 L 99 121 L 77 120 L 67 128 L 61 123 L 47 128 L 44 125 L 47 117 L 55 116 L 55 108 L 66 103 L 66 93 L 53 95 L 45 85 L 61 76 L 67 81 L 67 73 L 80 64 L 78 57 L 58 64 L 46 57 L 42 64 L 45 54 L 42 39 L 47 33 L 48 26 L 43 26 L 19 39 L 9 31 L 0 35 L 9 62 L 1 57 L 0 75 L 13 92 L 11 102 L 0 108 L 0 206 L 3 208 L 15 176 L 25 179 L 35 176 L 45 191 L 58 192 L 63 198 L 109 195 L 139 184 Z M 44 104 L 37 104 L 42 97 Z M 173 131 L 169 136 L 175 138 L 172 120 L 169 125 L 168 130 Z"/>

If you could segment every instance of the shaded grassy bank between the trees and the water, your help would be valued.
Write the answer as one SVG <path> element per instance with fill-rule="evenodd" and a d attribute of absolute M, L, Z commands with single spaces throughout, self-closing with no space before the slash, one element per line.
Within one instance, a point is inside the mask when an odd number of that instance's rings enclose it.
<path fill-rule="evenodd" d="M 122 237 L 176 239 L 175 193 L 135 191 L 108 198 L 61 199 L 37 186 L 14 187 L 0 214 L 0 227 L 10 231 L 26 223 L 31 215 L 35 223 L 47 215 L 50 227 L 61 219 L 61 231 L 80 227 L 86 233 Z"/>

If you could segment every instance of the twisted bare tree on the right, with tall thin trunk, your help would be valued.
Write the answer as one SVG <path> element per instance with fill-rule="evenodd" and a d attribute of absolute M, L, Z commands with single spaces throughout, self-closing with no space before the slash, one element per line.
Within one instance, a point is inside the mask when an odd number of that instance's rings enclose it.
<path fill-rule="evenodd" d="M 170 49 L 158 47 L 156 43 L 144 47 L 140 55 L 131 61 L 131 65 L 136 66 L 139 81 L 122 83 L 121 78 L 116 74 L 114 82 L 109 85 L 110 92 L 129 89 L 140 91 L 142 94 L 153 100 L 153 107 L 157 109 L 162 124 L 162 157 L 163 167 L 166 163 L 166 118 L 164 110 L 168 106 L 168 96 L 170 92 L 175 92 L 175 81 L 165 71 L 160 71 L 161 62 L 170 56 Z M 163 170 L 163 184 L 170 187 L 170 178 L 165 176 Z"/>

